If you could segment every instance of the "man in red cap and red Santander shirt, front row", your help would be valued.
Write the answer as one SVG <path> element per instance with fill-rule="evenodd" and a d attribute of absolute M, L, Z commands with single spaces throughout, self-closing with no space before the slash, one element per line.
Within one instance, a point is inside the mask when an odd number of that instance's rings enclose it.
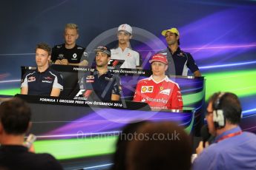
<path fill-rule="evenodd" d="M 151 63 L 153 75 L 138 82 L 134 101 L 146 102 L 153 109 L 180 109 L 183 107 L 179 85 L 165 75 L 165 71 L 168 69 L 165 55 L 153 55 L 149 63 Z"/>

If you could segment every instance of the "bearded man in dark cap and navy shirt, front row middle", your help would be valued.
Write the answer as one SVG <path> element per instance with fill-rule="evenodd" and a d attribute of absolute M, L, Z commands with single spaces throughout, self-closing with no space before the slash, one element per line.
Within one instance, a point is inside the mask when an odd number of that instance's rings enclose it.
<path fill-rule="evenodd" d="M 85 74 L 79 81 L 80 91 L 76 96 L 82 95 L 94 101 L 119 101 L 121 92 L 119 78 L 108 70 L 111 52 L 107 47 L 102 46 L 97 47 L 95 51 L 96 69 Z"/>

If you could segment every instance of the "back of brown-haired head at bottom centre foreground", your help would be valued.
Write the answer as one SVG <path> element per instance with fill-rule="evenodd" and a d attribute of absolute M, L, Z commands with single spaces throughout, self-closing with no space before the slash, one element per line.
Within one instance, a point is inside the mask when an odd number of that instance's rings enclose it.
<path fill-rule="evenodd" d="M 145 123 L 128 143 L 129 170 L 191 168 L 191 138 L 175 123 Z"/>

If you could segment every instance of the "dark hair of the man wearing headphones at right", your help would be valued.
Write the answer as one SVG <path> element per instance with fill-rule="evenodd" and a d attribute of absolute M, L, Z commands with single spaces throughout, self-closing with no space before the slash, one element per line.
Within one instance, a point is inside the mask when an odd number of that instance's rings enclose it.
<path fill-rule="evenodd" d="M 220 92 L 214 93 L 214 95 L 209 99 L 209 102 L 213 103 L 213 109 L 222 109 L 223 114 L 229 123 L 239 124 L 242 108 L 237 95 L 232 92 L 224 92 L 221 97 L 218 97 L 220 94 Z"/>

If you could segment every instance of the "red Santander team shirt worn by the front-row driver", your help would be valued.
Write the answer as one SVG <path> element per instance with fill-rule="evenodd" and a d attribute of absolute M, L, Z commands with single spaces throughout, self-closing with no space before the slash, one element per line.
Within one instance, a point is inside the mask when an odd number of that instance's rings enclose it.
<path fill-rule="evenodd" d="M 177 109 L 183 107 L 180 87 L 166 76 L 154 81 L 152 75 L 138 82 L 134 101 L 146 102 L 154 109 Z"/>

